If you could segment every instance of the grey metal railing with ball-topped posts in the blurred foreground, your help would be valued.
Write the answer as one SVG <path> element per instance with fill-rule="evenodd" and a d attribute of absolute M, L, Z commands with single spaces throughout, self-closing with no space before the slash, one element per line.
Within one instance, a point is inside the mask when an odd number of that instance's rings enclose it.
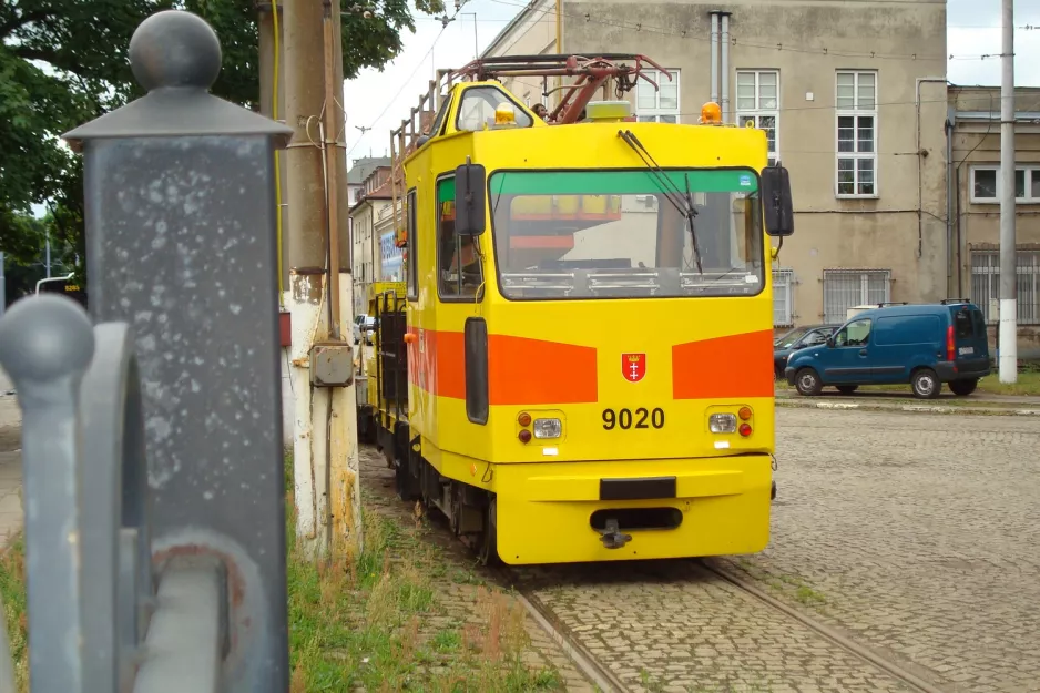
<path fill-rule="evenodd" d="M 273 153 L 292 131 L 208 93 L 220 42 L 194 14 L 146 19 L 130 58 L 147 95 L 65 135 L 90 317 L 42 294 L 0 319 L 30 682 L 285 693 Z"/>

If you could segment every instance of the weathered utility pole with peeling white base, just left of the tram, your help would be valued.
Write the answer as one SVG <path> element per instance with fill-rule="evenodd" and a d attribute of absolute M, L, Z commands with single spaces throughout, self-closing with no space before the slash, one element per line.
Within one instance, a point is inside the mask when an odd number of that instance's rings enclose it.
<path fill-rule="evenodd" d="M 347 186 L 339 3 L 287 2 L 283 17 L 286 124 L 296 131 L 285 157 L 296 534 L 314 553 L 355 552 L 361 531 L 354 383 L 312 383 L 312 349 L 349 344 L 339 332 L 354 322 L 347 216 L 340 213 Z"/>

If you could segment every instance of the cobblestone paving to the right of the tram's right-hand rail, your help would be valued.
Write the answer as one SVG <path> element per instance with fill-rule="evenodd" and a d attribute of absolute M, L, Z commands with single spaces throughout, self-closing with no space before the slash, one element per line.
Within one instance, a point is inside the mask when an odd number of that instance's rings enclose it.
<path fill-rule="evenodd" d="M 777 425 L 773 542 L 734 562 L 946 690 L 1040 691 L 1040 421 L 786 409 Z"/>

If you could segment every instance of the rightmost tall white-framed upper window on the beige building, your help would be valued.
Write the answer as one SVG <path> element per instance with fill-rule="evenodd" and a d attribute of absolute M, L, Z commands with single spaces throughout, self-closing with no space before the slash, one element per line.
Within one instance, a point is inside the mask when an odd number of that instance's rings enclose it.
<path fill-rule="evenodd" d="M 877 196 L 877 72 L 837 74 L 837 195 Z"/>

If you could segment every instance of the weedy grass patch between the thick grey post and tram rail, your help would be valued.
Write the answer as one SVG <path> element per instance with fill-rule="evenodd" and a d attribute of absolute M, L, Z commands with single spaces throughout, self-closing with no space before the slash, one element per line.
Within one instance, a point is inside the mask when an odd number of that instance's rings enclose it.
<path fill-rule="evenodd" d="M 554 671 L 527 666 L 526 612 L 498 590 L 475 588 L 472 620 L 426 626 L 439 615 L 429 587 L 437 553 L 394 520 L 363 517 L 365 550 L 354 562 L 312 562 L 289 531 L 293 693 L 561 687 Z"/>

